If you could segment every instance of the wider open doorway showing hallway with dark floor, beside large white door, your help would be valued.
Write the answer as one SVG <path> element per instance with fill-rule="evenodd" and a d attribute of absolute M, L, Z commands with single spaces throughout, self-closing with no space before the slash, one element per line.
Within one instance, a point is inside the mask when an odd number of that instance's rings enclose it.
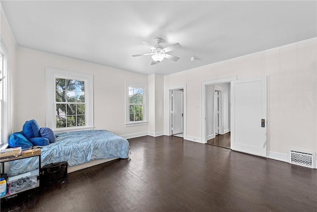
<path fill-rule="evenodd" d="M 230 83 L 206 86 L 207 144 L 230 148 Z"/>

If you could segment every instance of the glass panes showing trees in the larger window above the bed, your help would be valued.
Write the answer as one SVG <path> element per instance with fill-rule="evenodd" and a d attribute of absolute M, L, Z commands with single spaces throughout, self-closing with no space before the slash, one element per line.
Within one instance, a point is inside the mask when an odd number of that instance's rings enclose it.
<path fill-rule="evenodd" d="M 55 78 L 56 128 L 85 126 L 85 82 Z"/>

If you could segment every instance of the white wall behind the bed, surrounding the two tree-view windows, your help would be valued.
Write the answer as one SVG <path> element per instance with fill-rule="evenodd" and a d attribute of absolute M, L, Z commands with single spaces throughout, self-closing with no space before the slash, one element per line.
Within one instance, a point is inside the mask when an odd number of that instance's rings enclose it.
<path fill-rule="evenodd" d="M 66 57 L 18 48 L 14 77 L 14 132 L 25 121 L 46 124 L 45 67 L 94 75 L 94 124 L 126 138 L 147 135 L 148 126 L 125 127 L 125 81 L 148 83 L 148 76 Z"/>

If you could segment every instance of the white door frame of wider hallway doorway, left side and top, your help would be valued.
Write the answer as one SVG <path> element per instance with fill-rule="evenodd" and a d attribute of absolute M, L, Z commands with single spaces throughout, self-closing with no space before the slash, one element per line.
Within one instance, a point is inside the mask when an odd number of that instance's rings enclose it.
<path fill-rule="evenodd" d="M 207 143 L 207 135 L 206 135 L 206 86 L 207 85 L 214 85 L 219 83 L 227 83 L 233 80 L 237 80 L 237 76 L 231 76 L 226 78 L 202 81 L 202 132 L 201 132 L 201 142 Z M 231 115 L 230 115 L 231 116 Z"/>

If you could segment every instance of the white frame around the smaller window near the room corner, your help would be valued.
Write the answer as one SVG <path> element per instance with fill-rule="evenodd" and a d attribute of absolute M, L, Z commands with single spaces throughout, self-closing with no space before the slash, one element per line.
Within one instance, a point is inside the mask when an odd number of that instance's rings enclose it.
<path fill-rule="evenodd" d="M 129 107 L 129 87 L 138 87 L 143 89 L 143 121 L 130 121 Z M 147 125 L 148 121 L 148 85 L 135 82 L 125 82 L 125 127 Z"/>

